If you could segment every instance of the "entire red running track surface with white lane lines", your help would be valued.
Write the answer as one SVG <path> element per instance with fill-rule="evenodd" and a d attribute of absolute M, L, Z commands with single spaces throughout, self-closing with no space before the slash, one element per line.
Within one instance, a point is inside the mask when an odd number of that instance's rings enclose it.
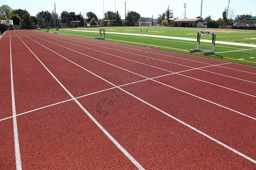
<path fill-rule="evenodd" d="M 256 169 L 253 66 L 36 31 L 0 46 L 0 169 Z"/>

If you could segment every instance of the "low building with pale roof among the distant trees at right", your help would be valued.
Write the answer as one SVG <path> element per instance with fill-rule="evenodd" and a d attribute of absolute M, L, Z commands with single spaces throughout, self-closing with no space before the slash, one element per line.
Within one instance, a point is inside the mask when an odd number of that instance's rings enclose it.
<path fill-rule="evenodd" d="M 201 18 L 184 18 L 184 19 L 175 19 L 174 27 L 197 27 L 204 28 L 207 27 L 207 22 Z"/>

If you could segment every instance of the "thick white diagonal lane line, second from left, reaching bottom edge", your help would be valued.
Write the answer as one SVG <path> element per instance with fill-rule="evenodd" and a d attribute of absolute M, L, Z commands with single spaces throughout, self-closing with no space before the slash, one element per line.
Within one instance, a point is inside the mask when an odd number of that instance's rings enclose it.
<path fill-rule="evenodd" d="M 15 34 L 16 34 L 16 33 L 15 33 Z M 18 35 L 17 35 L 17 36 L 18 36 Z M 19 36 L 18 36 L 18 37 L 19 37 Z M 19 39 L 20 39 L 20 37 L 19 37 Z M 20 39 L 20 41 L 22 41 L 22 39 Z M 23 42 L 23 41 L 22 41 L 22 42 Z M 26 45 L 24 42 L 23 42 L 23 44 Z M 27 45 L 26 45 L 26 46 L 27 46 Z M 28 46 L 27 46 L 27 48 L 28 48 Z M 142 165 L 139 164 L 139 163 L 137 162 L 137 160 L 135 160 L 135 159 L 133 158 L 133 156 L 131 156 L 131 155 L 129 154 L 129 152 L 127 152 L 127 151 L 125 150 L 125 148 L 123 148 L 123 147 L 112 137 L 112 135 L 111 135 L 110 133 L 108 133 L 108 131 L 107 131 L 105 128 L 103 128 L 103 126 L 101 126 L 101 124 L 92 116 L 92 114 L 90 114 L 90 113 L 82 106 L 82 104 L 71 94 L 71 92 L 69 92 L 69 91 L 67 90 L 67 88 L 64 87 L 64 85 L 56 78 L 55 75 L 52 74 L 52 72 L 46 67 L 46 65 L 44 65 L 44 63 L 43 63 L 42 61 L 40 61 L 40 59 L 32 52 L 32 50 L 31 50 L 30 48 L 28 48 L 28 49 L 29 49 L 30 52 L 36 57 L 36 59 L 38 59 L 38 61 L 44 66 L 44 68 L 48 71 L 48 73 L 51 74 L 52 77 L 53 77 L 53 78 L 60 84 L 60 86 L 67 92 L 67 94 L 72 97 L 72 99 L 77 103 L 77 105 L 79 105 L 79 107 L 82 109 L 82 111 L 84 111 L 84 112 L 88 115 L 88 117 L 90 117 L 90 119 L 94 122 L 94 124 L 96 124 L 96 125 L 98 126 L 98 128 L 100 128 L 100 129 L 102 130 L 102 132 L 114 143 L 114 145 L 117 146 L 117 147 L 119 148 L 119 150 L 121 150 L 121 151 L 123 152 L 123 154 L 125 154 L 125 156 L 126 156 L 128 159 L 130 159 L 130 161 L 131 161 L 138 169 L 144 169 L 144 168 L 142 167 Z"/>

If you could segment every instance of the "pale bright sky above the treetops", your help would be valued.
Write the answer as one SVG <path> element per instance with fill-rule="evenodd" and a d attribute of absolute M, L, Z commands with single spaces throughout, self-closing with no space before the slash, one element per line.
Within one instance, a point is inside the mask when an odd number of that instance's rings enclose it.
<path fill-rule="evenodd" d="M 212 16 L 217 20 L 222 18 L 222 12 L 228 7 L 229 11 L 234 15 L 251 14 L 256 16 L 256 0 L 203 0 L 202 18 Z M 104 2 L 104 5 L 103 5 Z M 115 11 L 115 7 L 121 14 L 121 18 L 125 18 L 125 2 L 126 12 L 135 11 L 142 17 L 158 18 L 159 14 L 163 14 L 166 8 L 174 12 L 175 18 L 196 18 L 200 16 L 201 0 L 0 0 L 0 6 L 9 5 L 13 9 L 26 9 L 30 15 L 36 16 L 40 11 L 53 11 L 56 5 L 57 14 L 63 11 L 75 12 L 76 14 L 86 15 L 86 12 L 94 12 L 99 19 L 103 18 L 104 11 Z M 184 8 L 186 3 L 186 8 Z M 231 14 L 230 13 L 230 14 Z"/>

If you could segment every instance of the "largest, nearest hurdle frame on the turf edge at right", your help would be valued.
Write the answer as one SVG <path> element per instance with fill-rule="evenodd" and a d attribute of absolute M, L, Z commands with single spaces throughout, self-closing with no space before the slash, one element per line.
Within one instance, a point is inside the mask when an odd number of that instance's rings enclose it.
<path fill-rule="evenodd" d="M 196 49 L 189 49 L 189 52 L 191 52 L 191 53 L 199 52 L 199 53 L 204 53 L 204 54 L 206 54 L 206 55 L 208 55 L 208 54 L 214 54 L 216 33 L 215 33 L 215 32 L 212 32 L 212 31 L 196 31 L 196 32 L 197 32 L 197 44 L 196 44 Z M 200 38 L 201 38 L 201 34 L 212 35 L 212 50 L 200 49 Z"/>

